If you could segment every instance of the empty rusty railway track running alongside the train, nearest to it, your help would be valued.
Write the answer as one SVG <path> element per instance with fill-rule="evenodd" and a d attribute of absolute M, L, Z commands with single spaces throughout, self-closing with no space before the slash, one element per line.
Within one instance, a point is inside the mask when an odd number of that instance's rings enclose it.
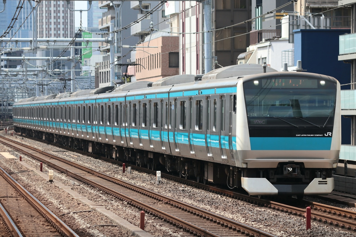
<path fill-rule="evenodd" d="M 66 159 L 33 149 L 16 141 L 0 137 L 0 142 L 11 146 L 28 156 L 67 173 L 79 181 L 93 185 L 106 193 L 116 196 L 129 205 L 143 210 L 151 216 L 171 223 L 176 228 L 195 236 L 250 236 L 275 237 L 243 223 L 183 203 L 168 196 L 138 187 L 120 179 L 107 176 Z"/>

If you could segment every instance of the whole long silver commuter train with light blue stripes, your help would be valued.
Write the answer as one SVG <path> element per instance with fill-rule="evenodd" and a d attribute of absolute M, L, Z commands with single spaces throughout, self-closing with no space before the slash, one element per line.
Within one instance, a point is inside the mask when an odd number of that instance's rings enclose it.
<path fill-rule="evenodd" d="M 341 144 L 340 84 L 261 65 L 23 99 L 14 129 L 250 195 L 325 195 Z"/>

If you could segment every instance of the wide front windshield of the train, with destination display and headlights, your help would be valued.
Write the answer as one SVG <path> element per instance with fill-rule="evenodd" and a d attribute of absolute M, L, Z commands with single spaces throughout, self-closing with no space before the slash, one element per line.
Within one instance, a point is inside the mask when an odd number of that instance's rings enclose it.
<path fill-rule="evenodd" d="M 244 82 L 248 118 L 334 117 L 336 82 L 305 77 L 276 77 Z M 315 118 L 315 119 L 313 119 Z"/>

